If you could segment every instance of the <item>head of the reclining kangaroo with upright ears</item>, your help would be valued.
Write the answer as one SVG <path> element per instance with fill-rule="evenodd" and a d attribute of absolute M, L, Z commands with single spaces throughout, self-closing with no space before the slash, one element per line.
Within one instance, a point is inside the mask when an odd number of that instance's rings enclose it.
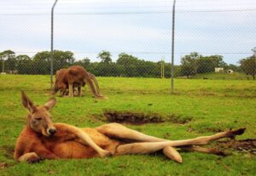
<path fill-rule="evenodd" d="M 56 132 L 54 123 L 51 122 L 49 110 L 55 105 L 55 98 L 49 99 L 44 105 L 34 105 L 26 94 L 21 91 L 22 105 L 28 110 L 27 125 L 37 133 L 44 136 L 53 136 Z"/>

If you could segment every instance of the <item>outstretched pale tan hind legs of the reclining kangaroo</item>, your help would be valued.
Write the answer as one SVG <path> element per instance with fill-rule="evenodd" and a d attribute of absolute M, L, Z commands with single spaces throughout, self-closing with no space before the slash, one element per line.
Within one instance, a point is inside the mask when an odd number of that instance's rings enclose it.
<path fill-rule="evenodd" d="M 125 128 L 125 126 L 118 123 L 110 123 L 102 125 L 96 128 L 100 133 L 107 135 L 108 137 L 113 137 L 116 139 L 131 139 L 137 141 L 137 143 L 131 143 L 126 145 L 119 145 L 117 148 L 116 155 L 124 154 L 136 154 L 136 153 L 151 153 L 157 150 L 164 149 L 163 152 L 166 156 L 172 159 L 176 157 L 177 162 L 181 162 L 181 157 L 175 150 L 174 146 L 184 146 L 184 145 L 206 145 L 212 140 L 221 138 L 230 138 L 236 135 L 244 133 L 245 128 L 240 128 L 238 130 L 227 130 L 221 133 L 215 133 L 211 136 L 202 136 L 195 139 L 184 139 L 184 140 L 166 140 L 156 138 L 154 136 L 149 136 L 144 133 L 137 132 L 135 130 Z M 140 142 L 139 142 L 140 141 Z"/>

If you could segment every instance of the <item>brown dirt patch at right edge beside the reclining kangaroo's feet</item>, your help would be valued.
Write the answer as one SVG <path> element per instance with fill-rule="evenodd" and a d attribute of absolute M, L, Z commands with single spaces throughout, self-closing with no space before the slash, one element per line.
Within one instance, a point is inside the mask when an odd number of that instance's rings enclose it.
<path fill-rule="evenodd" d="M 217 141 L 215 145 L 217 145 L 219 150 L 236 150 L 256 155 L 256 139 L 230 139 L 224 141 Z"/>

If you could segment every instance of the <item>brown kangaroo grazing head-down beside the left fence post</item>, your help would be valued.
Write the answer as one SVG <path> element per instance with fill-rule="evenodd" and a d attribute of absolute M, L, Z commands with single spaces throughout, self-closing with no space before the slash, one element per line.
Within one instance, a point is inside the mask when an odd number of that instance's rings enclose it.
<path fill-rule="evenodd" d="M 92 94 L 94 94 L 96 98 L 104 98 L 104 96 L 100 94 L 96 77 L 79 65 L 73 65 L 67 69 L 61 69 L 56 72 L 55 93 L 60 89 L 61 94 L 64 95 L 68 88 L 68 95 L 73 97 L 73 88 L 78 87 L 80 95 L 81 86 L 84 86 L 85 83 L 88 84 Z"/>

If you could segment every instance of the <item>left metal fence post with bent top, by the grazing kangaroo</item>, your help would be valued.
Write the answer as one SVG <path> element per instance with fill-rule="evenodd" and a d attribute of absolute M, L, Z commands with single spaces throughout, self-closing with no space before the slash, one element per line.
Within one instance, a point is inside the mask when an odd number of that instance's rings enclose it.
<path fill-rule="evenodd" d="M 58 0 L 55 0 L 51 8 L 51 31 L 50 31 L 50 88 L 53 88 L 53 60 L 54 60 L 54 51 L 53 51 L 53 31 L 54 31 L 54 9 L 55 4 Z"/>

